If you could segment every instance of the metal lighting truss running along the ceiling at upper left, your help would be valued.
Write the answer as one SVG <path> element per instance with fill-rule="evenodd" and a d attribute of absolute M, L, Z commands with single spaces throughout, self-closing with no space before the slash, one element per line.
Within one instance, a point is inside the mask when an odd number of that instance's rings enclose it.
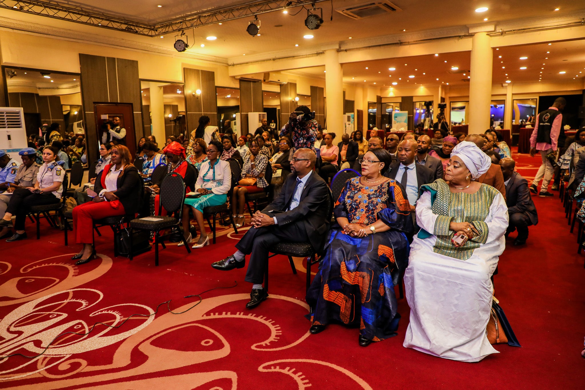
<path fill-rule="evenodd" d="M 228 20 L 249 18 L 260 13 L 278 11 L 279 9 L 309 6 L 330 0 L 260 0 L 249 1 L 236 6 L 215 8 L 206 11 L 186 13 L 176 18 L 161 22 L 156 25 L 135 22 L 129 19 L 119 18 L 114 15 L 106 15 L 94 10 L 84 9 L 81 6 L 57 1 L 17 1 L 0 0 L 0 8 L 12 11 L 26 12 L 32 15 L 48 16 L 49 18 L 69 20 L 107 29 L 135 33 L 144 36 L 159 36 L 168 33 L 181 32 L 202 26 L 223 23 Z"/>

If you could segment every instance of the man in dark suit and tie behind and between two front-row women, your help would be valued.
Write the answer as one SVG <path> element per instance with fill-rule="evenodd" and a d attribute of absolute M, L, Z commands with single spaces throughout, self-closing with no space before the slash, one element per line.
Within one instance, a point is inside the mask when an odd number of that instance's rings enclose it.
<path fill-rule="evenodd" d="M 435 181 L 435 172 L 431 168 L 415 163 L 414 160 L 417 158 L 417 150 L 417 141 L 413 139 L 402 140 L 398 144 L 396 151 L 398 160 L 390 164 L 390 168 L 384 174 L 384 176 L 398 181 L 405 189 L 412 211 L 412 218 L 415 223 L 415 232 L 418 231 L 416 215 L 414 213 L 418 199 L 418 189 L 423 184 L 429 184 Z"/>

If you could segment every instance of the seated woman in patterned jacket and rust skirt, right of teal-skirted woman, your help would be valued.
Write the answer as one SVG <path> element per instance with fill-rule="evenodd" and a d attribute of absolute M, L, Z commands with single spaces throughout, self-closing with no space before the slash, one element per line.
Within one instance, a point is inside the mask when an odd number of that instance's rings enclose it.
<path fill-rule="evenodd" d="M 232 199 L 232 215 L 236 222 L 236 227 L 243 226 L 246 222 L 244 218 L 244 208 L 246 206 L 246 194 L 256 194 L 263 192 L 268 187 L 268 182 L 264 175 L 266 173 L 266 165 L 268 165 L 268 157 L 260 153 L 261 138 L 257 137 L 250 143 L 250 154 L 244 157 L 244 165 L 242 167 L 242 180 L 233 189 Z"/>

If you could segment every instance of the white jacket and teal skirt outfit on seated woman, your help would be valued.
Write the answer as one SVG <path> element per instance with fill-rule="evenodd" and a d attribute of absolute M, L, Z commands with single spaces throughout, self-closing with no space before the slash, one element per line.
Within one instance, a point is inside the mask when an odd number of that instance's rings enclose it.
<path fill-rule="evenodd" d="M 211 194 L 201 195 L 199 198 L 187 198 L 185 204 L 203 212 L 209 206 L 219 206 L 228 201 L 228 191 L 232 187 L 232 171 L 228 161 L 215 160 L 213 166 L 209 160 L 201 164 L 195 192 L 199 188 L 210 189 Z"/>

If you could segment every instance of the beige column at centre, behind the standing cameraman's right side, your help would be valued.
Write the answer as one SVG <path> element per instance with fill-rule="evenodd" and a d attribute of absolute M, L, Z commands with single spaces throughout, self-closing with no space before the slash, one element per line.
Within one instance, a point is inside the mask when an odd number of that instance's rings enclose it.
<path fill-rule="evenodd" d="M 337 50 L 325 50 L 327 131 L 343 134 L 343 70 Z"/>

